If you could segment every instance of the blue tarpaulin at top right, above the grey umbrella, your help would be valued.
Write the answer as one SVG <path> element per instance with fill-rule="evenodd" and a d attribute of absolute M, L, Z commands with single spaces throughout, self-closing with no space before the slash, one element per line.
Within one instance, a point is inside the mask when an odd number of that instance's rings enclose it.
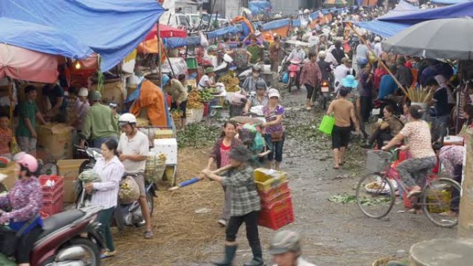
<path fill-rule="evenodd" d="M 407 10 L 402 12 L 402 15 L 383 16 L 373 21 L 355 22 L 354 24 L 382 37 L 391 37 L 401 30 L 422 21 L 456 17 L 473 17 L 473 1 L 444 8 Z"/>

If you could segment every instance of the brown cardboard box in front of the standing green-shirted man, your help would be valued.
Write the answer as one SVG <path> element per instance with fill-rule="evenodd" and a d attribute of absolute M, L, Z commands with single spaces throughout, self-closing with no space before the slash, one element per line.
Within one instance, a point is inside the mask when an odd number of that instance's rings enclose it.
<path fill-rule="evenodd" d="M 44 124 L 38 129 L 38 148 L 54 159 L 73 158 L 73 127 L 66 124 Z"/>

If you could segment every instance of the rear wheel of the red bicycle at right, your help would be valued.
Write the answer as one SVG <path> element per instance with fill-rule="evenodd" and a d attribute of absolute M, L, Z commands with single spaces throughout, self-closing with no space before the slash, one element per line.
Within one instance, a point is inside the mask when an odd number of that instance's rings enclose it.
<path fill-rule="evenodd" d="M 457 225 L 460 191 L 460 184 L 449 178 L 439 178 L 427 183 L 421 196 L 421 204 L 427 218 L 439 227 Z M 448 211 L 454 211 L 456 216 L 449 216 Z"/>

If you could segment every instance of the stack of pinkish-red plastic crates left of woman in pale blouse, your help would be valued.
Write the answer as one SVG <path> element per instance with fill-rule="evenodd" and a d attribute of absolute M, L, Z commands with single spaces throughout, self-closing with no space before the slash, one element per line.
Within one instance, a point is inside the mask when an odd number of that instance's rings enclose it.
<path fill-rule="evenodd" d="M 43 189 L 41 213 L 44 213 L 44 217 L 48 217 L 61 212 L 64 205 L 64 177 L 40 175 L 38 180 Z"/>

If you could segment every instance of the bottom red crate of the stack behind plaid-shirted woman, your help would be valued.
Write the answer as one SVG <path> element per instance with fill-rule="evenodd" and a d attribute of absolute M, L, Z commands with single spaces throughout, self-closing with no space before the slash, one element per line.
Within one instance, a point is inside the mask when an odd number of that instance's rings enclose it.
<path fill-rule="evenodd" d="M 261 209 L 258 225 L 277 230 L 291 222 L 294 222 L 294 211 L 289 197 L 273 203 L 270 209 Z"/>

